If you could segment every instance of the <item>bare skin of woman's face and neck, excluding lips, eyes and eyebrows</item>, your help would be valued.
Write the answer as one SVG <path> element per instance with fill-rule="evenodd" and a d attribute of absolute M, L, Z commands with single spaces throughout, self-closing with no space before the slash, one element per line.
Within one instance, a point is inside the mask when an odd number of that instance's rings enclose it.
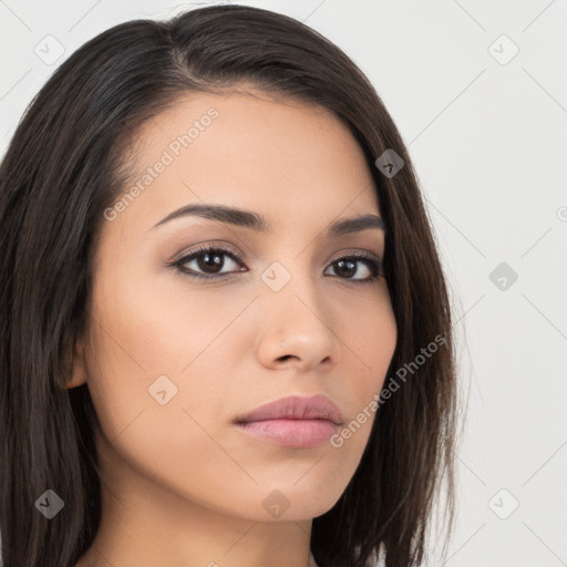
<path fill-rule="evenodd" d="M 79 567 L 308 567 L 312 518 L 347 487 L 374 414 L 341 447 L 282 447 L 231 420 L 322 393 L 349 423 L 393 355 L 385 279 L 358 282 L 372 276 L 368 264 L 351 279 L 333 264 L 355 251 L 382 258 L 383 231 L 322 237 L 331 221 L 380 216 L 363 154 L 329 111 L 250 91 L 184 96 L 137 133 L 132 184 L 210 107 L 218 117 L 190 146 L 102 219 L 91 340 L 70 382 L 87 383 L 101 423 L 102 522 Z M 197 216 L 152 228 L 196 203 L 261 214 L 271 231 Z M 227 256 L 221 271 L 235 274 L 217 281 L 166 267 L 202 244 L 240 251 L 247 270 Z M 279 291 L 260 278 L 274 261 L 291 276 Z M 203 272 L 196 260 L 185 267 Z M 148 393 L 161 375 L 177 386 L 164 405 Z M 262 505 L 272 491 L 289 504 L 279 517 Z"/>

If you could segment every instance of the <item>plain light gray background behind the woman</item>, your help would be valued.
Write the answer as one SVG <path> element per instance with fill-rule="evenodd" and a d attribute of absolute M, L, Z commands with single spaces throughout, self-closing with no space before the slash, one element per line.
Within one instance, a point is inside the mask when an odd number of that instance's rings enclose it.
<path fill-rule="evenodd" d="M 37 91 L 86 40 L 207 3 L 0 0 L 0 155 Z M 409 144 L 457 306 L 468 396 L 445 565 L 567 565 L 567 1 L 240 3 L 292 16 L 341 47 Z M 48 34 L 64 48 L 52 65 L 34 52 L 55 53 Z M 509 62 L 503 34 L 519 49 Z M 518 275 L 512 285 L 489 279 L 501 262 Z"/>

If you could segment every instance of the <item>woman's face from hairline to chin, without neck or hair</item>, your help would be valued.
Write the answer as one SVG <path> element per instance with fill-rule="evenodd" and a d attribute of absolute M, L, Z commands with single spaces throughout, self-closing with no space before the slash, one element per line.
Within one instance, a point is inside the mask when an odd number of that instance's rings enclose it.
<path fill-rule="evenodd" d="M 381 390 L 396 326 L 374 277 L 382 229 L 328 234 L 380 217 L 360 147 L 322 107 L 262 96 L 186 97 L 137 133 L 127 195 L 101 218 L 85 377 L 114 478 L 269 522 L 333 506 L 374 413 L 340 446 L 321 420 L 234 421 L 321 394 L 347 426 Z M 247 213 L 164 220 L 190 205 Z"/>

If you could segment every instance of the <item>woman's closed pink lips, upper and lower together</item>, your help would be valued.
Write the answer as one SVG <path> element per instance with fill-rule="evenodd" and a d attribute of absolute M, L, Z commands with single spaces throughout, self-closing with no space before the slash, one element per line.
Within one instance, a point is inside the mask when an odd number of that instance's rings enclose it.
<path fill-rule="evenodd" d="M 291 395 L 257 408 L 234 421 L 239 431 L 288 447 L 324 443 L 342 425 L 342 414 L 324 395 Z"/>

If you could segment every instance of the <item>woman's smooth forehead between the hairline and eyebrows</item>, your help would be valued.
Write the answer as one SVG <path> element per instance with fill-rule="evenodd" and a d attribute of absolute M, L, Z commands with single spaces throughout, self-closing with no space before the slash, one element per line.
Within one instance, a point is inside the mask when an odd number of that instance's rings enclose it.
<path fill-rule="evenodd" d="M 275 225 L 379 214 L 360 146 L 316 104 L 260 92 L 192 94 L 146 122 L 135 141 L 125 190 L 138 190 L 122 216 L 145 226 L 199 202 L 257 210 Z"/>

